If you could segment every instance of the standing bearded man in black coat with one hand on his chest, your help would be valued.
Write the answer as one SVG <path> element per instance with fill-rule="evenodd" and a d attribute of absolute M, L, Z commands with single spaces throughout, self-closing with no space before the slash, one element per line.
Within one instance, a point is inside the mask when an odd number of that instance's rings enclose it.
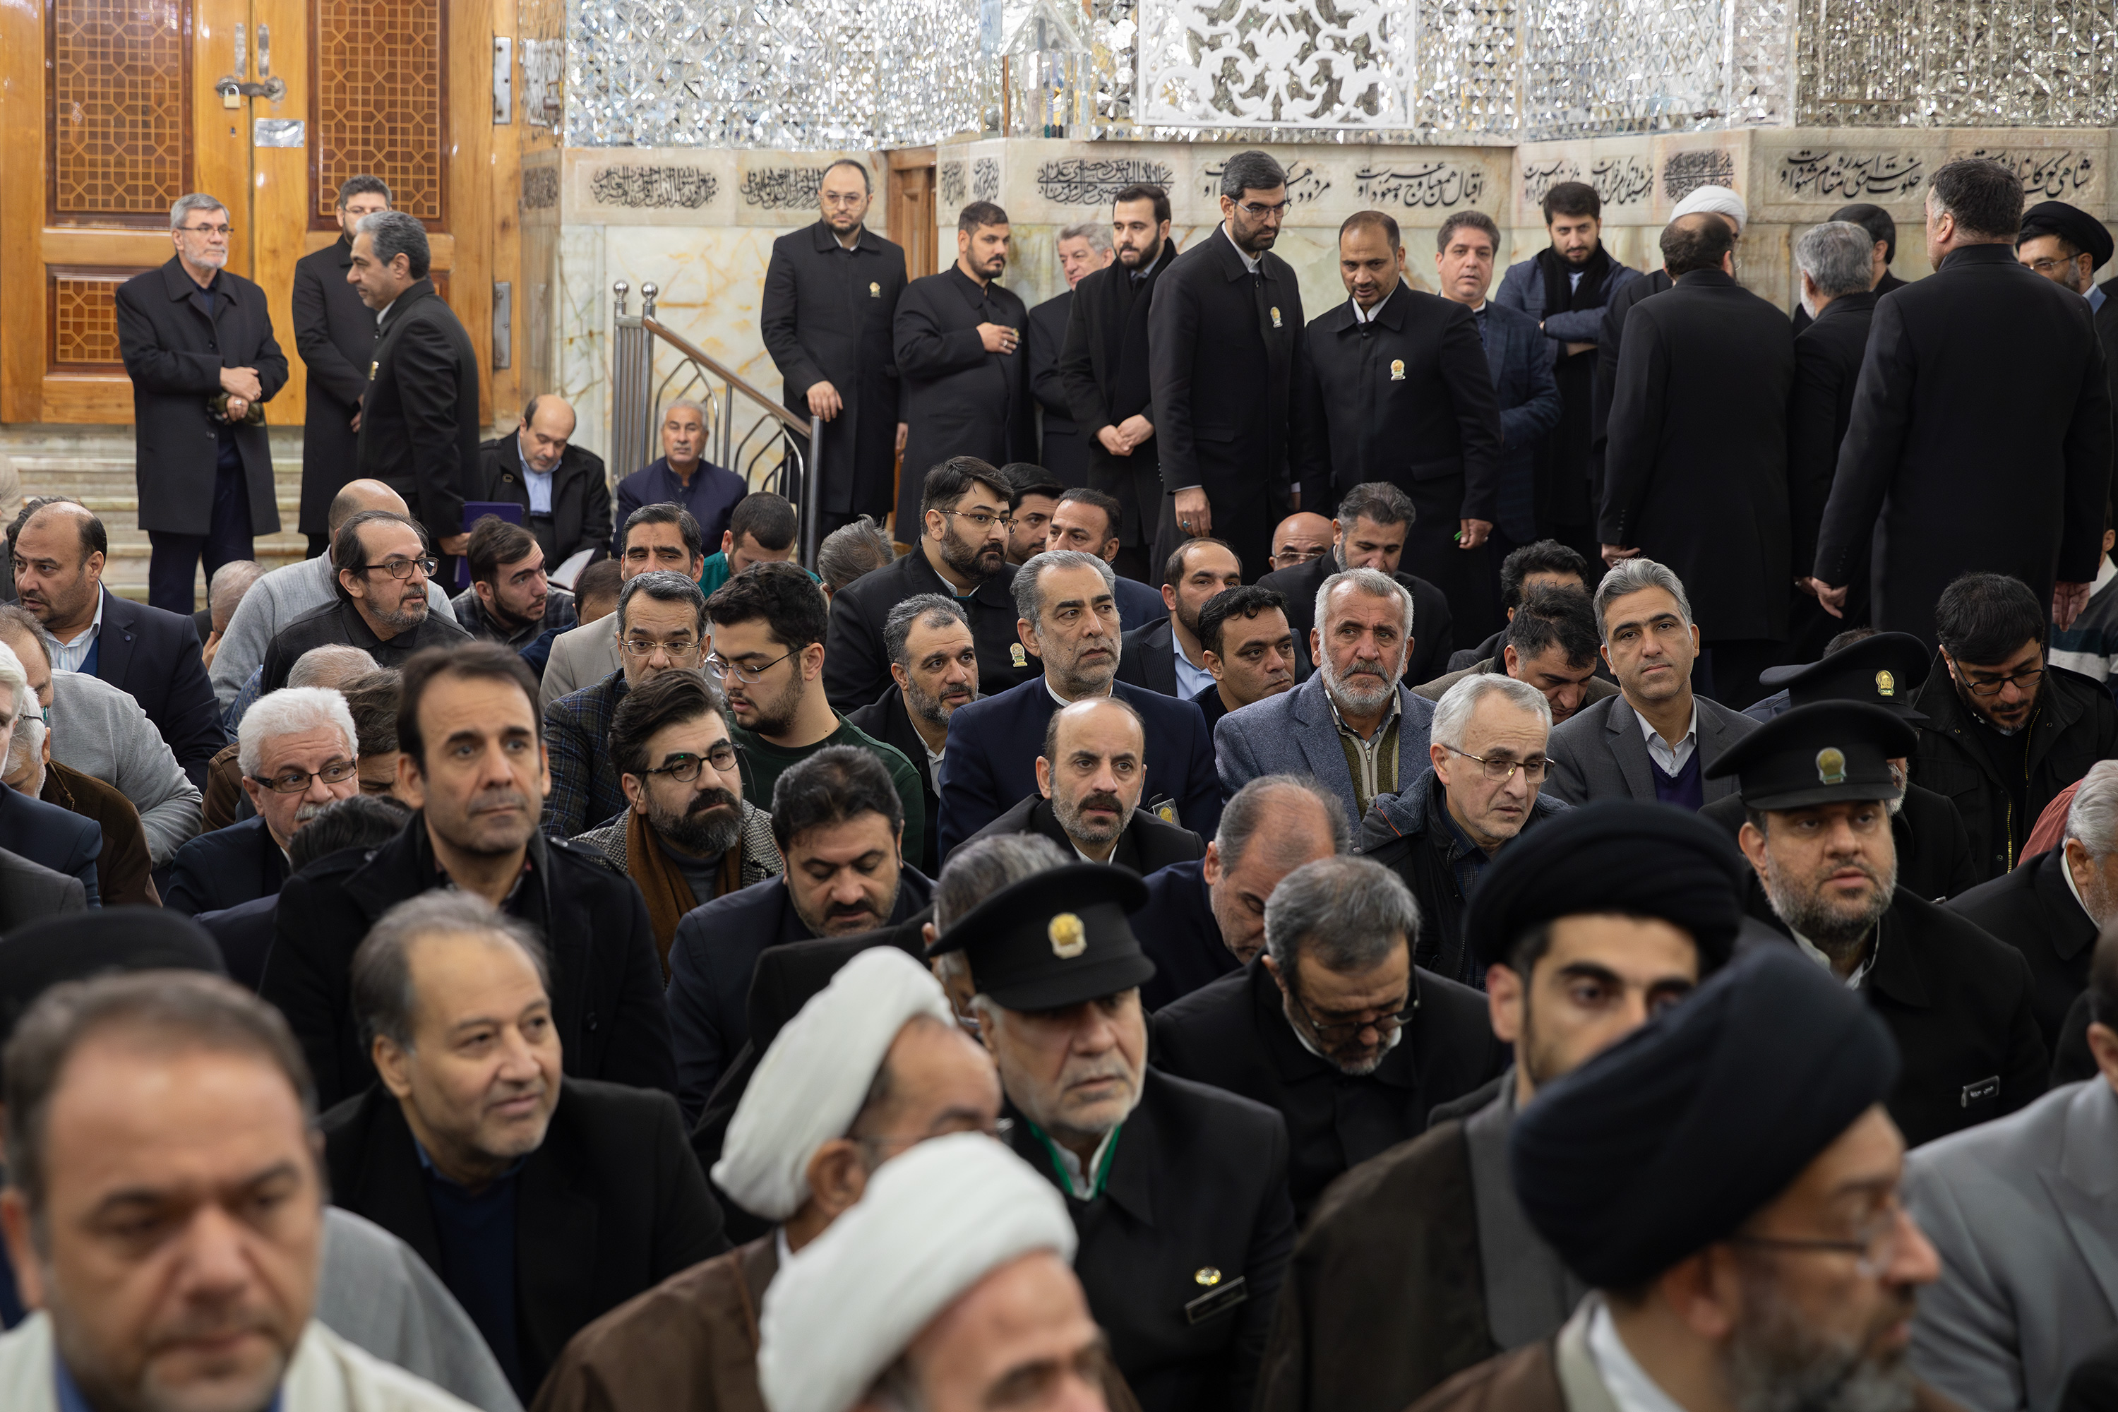
<path fill-rule="evenodd" d="M 955 265 L 904 286 L 892 322 L 904 381 L 907 466 L 979 457 L 1029 459 L 1036 445 L 1023 301 L 998 284 L 1008 269 L 1008 214 L 972 201 L 955 222 Z M 898 533 L 926 512 L 911 476 L 898 489 Z"/>

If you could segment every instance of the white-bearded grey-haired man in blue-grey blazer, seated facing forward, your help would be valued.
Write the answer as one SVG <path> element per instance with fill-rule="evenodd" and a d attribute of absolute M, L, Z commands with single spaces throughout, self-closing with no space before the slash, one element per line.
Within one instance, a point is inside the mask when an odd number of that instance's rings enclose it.
<path fill-rule="evenodd" d="M 1317 586 L 1313 622 L 1317 671 L 1214 726 L 1220 785 L 1233 794 L 1260 775 L 1311 775 L 1360 819 L 1428 762 L 1434 703 L 1402 682 L 1413 595 L 1383 569 L 1343 569 Z"/>

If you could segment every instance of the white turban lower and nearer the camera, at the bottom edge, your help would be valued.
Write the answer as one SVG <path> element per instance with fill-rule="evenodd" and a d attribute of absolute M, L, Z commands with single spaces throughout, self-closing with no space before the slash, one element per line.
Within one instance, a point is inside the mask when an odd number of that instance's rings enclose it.
<path fill-rule="evenodd" d="M 1031 1251 L 1074 1260 L 1059 1190 L 983 1133 L 919 1143 L 765 1289 L 758 1389 L 771 1412 L 845 1412 L 928 1323 Z"/>

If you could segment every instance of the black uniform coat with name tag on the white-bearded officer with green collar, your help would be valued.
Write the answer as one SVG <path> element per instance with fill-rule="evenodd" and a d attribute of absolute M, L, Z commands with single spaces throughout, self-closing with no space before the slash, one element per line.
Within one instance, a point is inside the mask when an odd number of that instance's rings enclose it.
<path fill-rule="evenodd" d="M 1279 1114 L 1150 1065 L 1103 1192 L 1087 1202 L 1012 1105 L 1010 1116 L 1015 1152 L 1065 1196 L 1080 1234 L 1074 1274 L 1142 1412 L 1248 1408 L 1294 1247 Z M 1201 1270 L 1220 1281 L 1201 1285 Z M 1209 1296 L 1220 1300 L 1192 1323 L 1186 1306 Z"/>

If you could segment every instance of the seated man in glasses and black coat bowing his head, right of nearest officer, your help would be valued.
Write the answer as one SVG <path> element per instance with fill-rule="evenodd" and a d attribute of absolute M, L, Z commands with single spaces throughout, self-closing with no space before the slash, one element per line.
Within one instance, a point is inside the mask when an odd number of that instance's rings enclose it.
<path fill-rule="evenodd" d="M 1264 955 L 1154 1012 L 1163 1071 L 1279 1109 L 1294 1219 L 1356 1162 L 1508 1067 L 1485 1001 L 1413 965 L 1419 906 L 1387 868 L 1326 857 L 1264 906 Z"/>

